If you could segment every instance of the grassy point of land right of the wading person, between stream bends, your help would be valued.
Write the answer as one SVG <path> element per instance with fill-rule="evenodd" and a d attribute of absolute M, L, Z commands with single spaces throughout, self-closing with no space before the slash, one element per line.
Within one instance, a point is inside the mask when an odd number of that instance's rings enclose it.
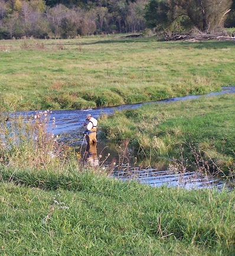
<path fill-rule="evenodd" d="M 185 165 L 234 175 L 234 95 L 143 105 L 100 119 L 103 136 L 128 140 L 141 157 L 175 158 Z"/>

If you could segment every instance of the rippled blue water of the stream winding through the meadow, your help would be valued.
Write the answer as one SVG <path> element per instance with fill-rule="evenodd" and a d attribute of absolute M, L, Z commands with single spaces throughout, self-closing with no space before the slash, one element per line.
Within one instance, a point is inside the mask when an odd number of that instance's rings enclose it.
<path fill-rule="evenodd" d="M 233 94 L 235 93 L 235 87 L 223 87 L 220 92 L 212 92 L 206 95 L 187 95 L 185 97 L 169 98 L 167 100 L 158 101 L 158 103 L 167 104 L 172 101 L 183 101 L 191 100 L 193 98 L 199 97 L 210 97 L 221 94 Z M 151 102 L 152 103 L 152 102 Z M 150 104 L 150 103 L 143 103 Z M 83 122 L 86 119 L 86 115 L 92 114 L 96 119 L 103 113 L 110 115 L 115 112 L 115 110 L 125 110 L 141 107 L 143 104 L 131 104 L 131 105 L 121 105 L 118 107 L 103 107 L 87 110 L 57 110 L 52 111 L 51 117 L 56 119 L 56 128 L 53 130 L 54 135 L 60 135 L 60 140 L 67 143 L 71 147 L 80 147 L 81 149 L 86 145 L 84 142 L 84 126 Z M 34 114 L 35 112 L 31 112 Z M 30 112 L 28 112 L 30 114 Z M 99 140 L 99 129 L 97 131 L 97 155 L 102 155 L 99 160 L 99 164 L 103 168 L 110 166 L 114 161 L 118 161 L 118 152 L 115 150 L 114 145 L 110 145 L 106 141 Z M 109 157 L 106 158 L 106 156 Z M 115 160 L 113 160 L 115 159 Z M 135 178 L 141 183 L 149 184 L 154 187 L 161 185 L 173 185 L 177 187 L 185 187 L 188 189 L 192 188 L 205 188 L 213 187 L 221 188 L 226 185 L 226 181 L 222 178 L 212 177 L 210 175 L 205 175 L 201 172 L 187 171 L 184 173 L 178 171 L 177 169 L 172 169 L 168 165 L 164 168 L 139 168 L 133 166 L 123 165 L 120 169 L 119 167 L 113 168 L 113 172 L 110 174 L 111 177 L 119 178 L 122 180 L 129 180 Z"/>

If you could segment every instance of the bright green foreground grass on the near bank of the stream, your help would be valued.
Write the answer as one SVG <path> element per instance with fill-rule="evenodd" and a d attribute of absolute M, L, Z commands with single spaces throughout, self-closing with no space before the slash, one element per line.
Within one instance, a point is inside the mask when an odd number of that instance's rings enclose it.
<path fill-rule="evenodd" d="M 21 185 L 19 185 L 21 184 Z M 1 255 L 233 255 L 234 191 L 1 169 Z"/>

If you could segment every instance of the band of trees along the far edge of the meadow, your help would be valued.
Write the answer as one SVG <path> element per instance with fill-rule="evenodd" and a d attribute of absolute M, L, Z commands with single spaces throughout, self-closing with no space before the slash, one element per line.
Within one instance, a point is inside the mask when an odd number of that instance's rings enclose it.
<path fill-rule="evenodd" d="M 0 39 L 235 27 L 235 0 L 0 0 Z"/>

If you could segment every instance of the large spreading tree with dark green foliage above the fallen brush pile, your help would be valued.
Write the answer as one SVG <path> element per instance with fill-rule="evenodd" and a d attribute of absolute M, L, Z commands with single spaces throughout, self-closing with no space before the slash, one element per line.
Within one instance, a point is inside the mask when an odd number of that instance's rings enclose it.
<path fill-rule="evenodd" d="M 179 33 L 190 31 L 193 26 L 208 33 L 218 33 L 218 28 L 223 28 L 230 7 L 231 0 L 213 3 L 210 0 L 151 0 L 146 5 L 146 25 Z"/>

